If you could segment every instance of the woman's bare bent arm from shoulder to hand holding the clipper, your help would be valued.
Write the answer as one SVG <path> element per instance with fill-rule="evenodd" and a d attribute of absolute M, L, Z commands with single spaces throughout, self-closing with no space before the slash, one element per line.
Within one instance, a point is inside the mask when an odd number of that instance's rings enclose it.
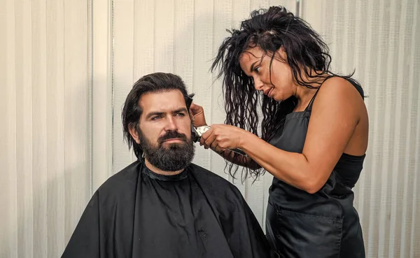
<path fill-rule="evenodd" d="M 213 125 L 202 136 L 202 144 L 215 150 L 241 148 L 274 177 L 315 193 L 328 180 L 363 113 L 365 104 L 353 85 L 342 78 L 331 78 L 314 101 L 302 153 L 280 150 L 248 131 L 228 125 Z M 366 144 L 360 143 L 360 155 Z"/>

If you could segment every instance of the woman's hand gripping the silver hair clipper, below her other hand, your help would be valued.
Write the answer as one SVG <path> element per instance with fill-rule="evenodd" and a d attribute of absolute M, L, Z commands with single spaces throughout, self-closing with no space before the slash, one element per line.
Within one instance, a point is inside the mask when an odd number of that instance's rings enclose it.
<path fill-rule="evenodd" d="M 228 149 L 234 150 L 240 148 L 246 133 L 248 131 L 232 125 L 212 124 L 211 129 L 202 135 L 200 145 L 204 145 L 206 149 L 211 148 L 218 153 Z"/>

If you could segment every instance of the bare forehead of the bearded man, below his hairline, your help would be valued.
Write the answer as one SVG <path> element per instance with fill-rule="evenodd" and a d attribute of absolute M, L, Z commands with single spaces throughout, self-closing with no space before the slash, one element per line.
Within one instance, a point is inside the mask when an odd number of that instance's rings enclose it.
<path fill-rule="evenodd" d="M 179 108 L 186 108 L 186 101 L 179 89 L 171 89 L 143 94 L 139 105 L 144 112 L 172 112 Z"/>

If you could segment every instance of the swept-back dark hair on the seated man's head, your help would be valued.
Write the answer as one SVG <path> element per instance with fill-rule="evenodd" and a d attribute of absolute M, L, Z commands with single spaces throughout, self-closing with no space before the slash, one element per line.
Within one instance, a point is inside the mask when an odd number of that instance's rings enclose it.
<path fill-rule="evenodd" d="M 132 90 L 125 99 L 123 112 L 121 113 L 121 119 L 123 120 L 123 134 L 124 139 L 127 141 L 128 148 L 133 148 L 134 154 L 139 159 L 143 155 L 141 146 L 134 141 L 130 134 L 130 127 L 134 127 L 139 130 L 139 122 L 141 110 L 139 100 L 143 94 L 146 93 L 157 93 L 166 92 L 169 90 L 178 89 L 184 96 L 186 103 L 188 103 L 188 93 L 185 83 L 181 77 L 176 76 L 172 73 L 151 73 L 141 77 L 134 83 Z M 190 108 L 187 106 L 187 109 Z"/>

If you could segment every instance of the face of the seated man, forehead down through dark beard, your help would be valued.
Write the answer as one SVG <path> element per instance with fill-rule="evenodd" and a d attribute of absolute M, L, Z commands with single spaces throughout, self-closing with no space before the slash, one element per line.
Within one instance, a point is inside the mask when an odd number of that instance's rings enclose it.
<path fill-rule="evenodd" d="M 191 120 L 178 89 L 141 96 L 137 138 L 148 162 L 162 171 L 185 169 L 194 157 Z"/>

